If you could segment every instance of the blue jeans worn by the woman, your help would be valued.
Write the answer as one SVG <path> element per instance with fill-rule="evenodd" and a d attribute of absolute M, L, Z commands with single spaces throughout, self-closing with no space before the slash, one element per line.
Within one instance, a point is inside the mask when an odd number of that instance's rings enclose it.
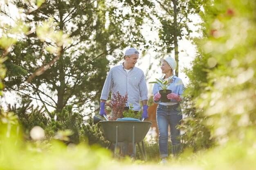
<path fill-rule="evenodd" d="M 176 128 L 182 119 L 180 111 L 179 104 L 171 106 L 159 104 L 157 107 L 160 158 L 168 157 L 168 126 L 171 131 L 172 154 L 177 155 L 180 152 L 180 140 L 177 139 L 180 130 Z"/>

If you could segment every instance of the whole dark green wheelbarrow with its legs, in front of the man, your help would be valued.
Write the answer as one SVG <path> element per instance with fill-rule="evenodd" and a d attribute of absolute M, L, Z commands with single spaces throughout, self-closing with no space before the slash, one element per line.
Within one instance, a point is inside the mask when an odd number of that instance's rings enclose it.
<path fill-rule="evenodd" d="M 144 119 L 143 119 L 144 120 Z M 123 118 L 117 121 L 104 121 L 99 117 L 93 117 L 93 123 L 100 123 L 100 129 L 110 144 L 115 143 L 115 155 L 117 154 L 117 143 L 123 142 L 122 153 L 128 155 L 128 143 L 132 143 L 132 155 L 136 157 L 136 144 L 138 145 L 141 158 L 147 160 L 147 154 L 143 139 L 146 137 L 151 126 L 150 121 L 140 121 L 139 119 Z M 140 146 L 141 142 L 141 146 Z"/>

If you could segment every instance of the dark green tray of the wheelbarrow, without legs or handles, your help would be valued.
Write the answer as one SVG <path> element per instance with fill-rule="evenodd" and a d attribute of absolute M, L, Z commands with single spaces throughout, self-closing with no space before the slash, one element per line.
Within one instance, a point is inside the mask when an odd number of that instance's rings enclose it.
<path fill-rule="evenodd" d="M 151 126 L 149 121 L 99 121 L 100 129 L 108 141 L 132 142 L 133 132 L 135 143 L 143 141 Z"/>

